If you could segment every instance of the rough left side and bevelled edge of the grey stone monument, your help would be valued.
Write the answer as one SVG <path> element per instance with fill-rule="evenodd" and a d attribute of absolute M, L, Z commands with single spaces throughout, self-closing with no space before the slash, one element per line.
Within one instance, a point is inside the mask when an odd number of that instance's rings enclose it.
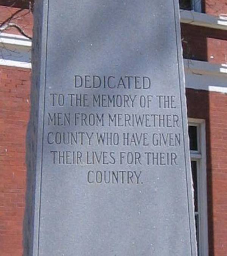
<path fill-rule="evenodd" d="M 47 50 L 48 0 L 34 4 L 31 110 L 26 134 L 26 206 L 23 220 L 23 256 L 39 255 L 40 196 Z"/>

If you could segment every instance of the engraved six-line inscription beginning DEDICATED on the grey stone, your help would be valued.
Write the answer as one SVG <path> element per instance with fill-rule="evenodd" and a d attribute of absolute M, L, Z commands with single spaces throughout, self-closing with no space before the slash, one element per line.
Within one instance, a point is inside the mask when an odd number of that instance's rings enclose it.
<path fill-rule="evenodd" d="M 87 184 L 143 184 L 144 171 L 179 165 L 179 99 L 150 77 L 75 74 L 72 91 L 48 97 L 51 164 L 85 167 Z"/>

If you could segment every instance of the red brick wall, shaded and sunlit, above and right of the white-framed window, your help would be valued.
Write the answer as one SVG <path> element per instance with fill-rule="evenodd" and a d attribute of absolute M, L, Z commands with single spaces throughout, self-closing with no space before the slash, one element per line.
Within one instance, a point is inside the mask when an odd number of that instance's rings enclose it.
<path fill-rule="evenodd" d="M 188 117 L 206 121 L 210 256 L 227 255 L 227 94 L 187 89 Z"/>

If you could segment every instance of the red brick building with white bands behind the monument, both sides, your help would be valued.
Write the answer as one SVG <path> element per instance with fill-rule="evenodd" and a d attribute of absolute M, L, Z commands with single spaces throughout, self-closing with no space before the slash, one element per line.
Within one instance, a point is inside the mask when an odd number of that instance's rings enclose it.
<path fill-rule="evenodd" d="M 0 23 L 32 36 L 28 9 L 0 1 Z M 20 2 L 20 1 L 18 1 Z M 196 190 L 199 255 L 227 255 L 227 2 L 184 1 L 182 45 Z M 25 6 L 28 7 L 28 6 Z M 184 7 L 184 6 L 182 6 Z M 195 11 L 194 11 L 194 10 Z M 0 255 L 23 252 L 26 126 L 30 112 L 31 42 L 16 28 L 0 33 Z"/>

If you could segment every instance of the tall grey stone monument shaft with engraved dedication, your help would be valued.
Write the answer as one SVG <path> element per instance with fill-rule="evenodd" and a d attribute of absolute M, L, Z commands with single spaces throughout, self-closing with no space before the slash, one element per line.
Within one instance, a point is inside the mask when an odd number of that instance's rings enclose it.
<path fill-rule="evenodd" d="M 178 1 L 45 0 L 35 20 L 29 255 L 196 255 Z"/>

